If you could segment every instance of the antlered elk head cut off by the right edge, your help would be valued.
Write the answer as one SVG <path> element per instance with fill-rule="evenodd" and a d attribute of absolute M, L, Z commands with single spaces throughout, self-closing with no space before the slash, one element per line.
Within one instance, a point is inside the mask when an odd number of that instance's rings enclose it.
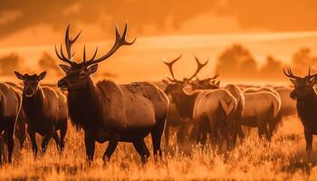
<path fill-rule="evenodd" d="M 286 71 L 283 70 L 283 72 L 294 85 L 294 90 L 290 94 L 290 97 L 293 100 L 303 98 L 304 96 L 309 95 L 312 92 L 314 93 L 313 86 L 317 83 L 317 73 L 311 75 L 311 69 L 309 69 L 308 74 L 306 76 L 299 77 L 293 75 L 291 69 L 287 69 Z"/>

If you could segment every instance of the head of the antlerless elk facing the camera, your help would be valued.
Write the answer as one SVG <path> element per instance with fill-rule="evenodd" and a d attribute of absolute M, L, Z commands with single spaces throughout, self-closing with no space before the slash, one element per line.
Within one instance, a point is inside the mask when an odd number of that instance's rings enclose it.
<path fill-rule="evenodd" d="M 31 97 L 34 97 L 34 95 L 39 90 L 39 82 L 45 78 L 46 71 L 43 71 L 39 75 L 37 74 L 29 75 L 27 73 L 23 75 L 17 71 L 14 71 L 14 74 L 17 77 L 17 79 L 24 81 L 23 93 L 25 97 L 31 98 Z"/>

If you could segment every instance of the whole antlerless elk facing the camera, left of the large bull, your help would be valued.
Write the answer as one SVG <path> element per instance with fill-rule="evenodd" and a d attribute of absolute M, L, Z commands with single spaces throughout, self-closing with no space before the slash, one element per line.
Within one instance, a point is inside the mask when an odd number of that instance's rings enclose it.
<path fill-rule="evenodd" d="M 45 78 L 46 71 L 39 75 L 21 74 L 14 71 L 17 79 L 23 81 L 22 108 L 26 117 L 27 133 L 31 138 L 34 157 L 37 156 L 35 133 L 43 137 L 42 151 L 45 152 L 51 138 L 62 151 L 67 131 L 66 98 L 59 90 L 41 86 L 39 82 Z M 60 137 L 57 131 L 60 130 Z"/>

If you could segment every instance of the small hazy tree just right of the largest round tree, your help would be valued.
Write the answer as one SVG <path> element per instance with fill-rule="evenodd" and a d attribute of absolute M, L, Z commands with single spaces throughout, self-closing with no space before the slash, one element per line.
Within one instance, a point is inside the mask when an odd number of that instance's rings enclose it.
<path fill-rule="evenodd" d="M 264 66 L 260 70 L 261 79 L 277 80 L 283 79 L 282 62 L 272 55 L 267 56 Z"/>

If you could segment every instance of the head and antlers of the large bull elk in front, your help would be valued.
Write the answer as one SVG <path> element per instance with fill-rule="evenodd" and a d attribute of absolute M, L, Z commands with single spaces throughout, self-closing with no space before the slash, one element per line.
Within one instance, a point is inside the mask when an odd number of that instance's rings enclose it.
<path fill-rule="evenodd" d="M 116 52 L 121 46 L 123 45 L 131 45 L 133 44 L 136 39 L 134 39 L 132 42 L 126 41 L 126 35 L 128 31 L 128 25 L 125 24 L 123 33 L 120 34 L 118 30 L 118 26 L 116 25 L 115 28 L 115 36 L 116 41 L 113 44 L 112 48 L 109 52 L 105 53 L 100 58 L 96 58 L 98 47 L 96 48 L 96 51 L 93 53 L 91 59 L 87 60 L 86 58 L 86 51 L 85 46 L 83 47 L 83 60 L 82 62 L 74 62 L 72 53 L 72 43 L 75 43 L 78 37 L 80 36 L 80 33 L 78 33 L 73 39 L 70 38 L 69 35 L 70 26 L 68 25 L 65 33 L 65 47 L 67 51 L 67 56 L 64 55 L 62 52 L 62 44 L 61 44 L 61 54 L 57 51 L 57 48 L 55 46 L 55 52 L 56 55 L 62 62 L 67 62 L 69 65 L 60 64 L 60 67 L 62 68 L 62 71 L 66 73 L 66 76 L 63 77 L 60 81 L 58 81 L 58 87 L 61 90 L 78 90 L 81 89 L 83 86 L 87 84 L 88 81 L 91 80 L 91 74 L 97 71 L 98 63 L 107 60 L 114 52 Z"/>

